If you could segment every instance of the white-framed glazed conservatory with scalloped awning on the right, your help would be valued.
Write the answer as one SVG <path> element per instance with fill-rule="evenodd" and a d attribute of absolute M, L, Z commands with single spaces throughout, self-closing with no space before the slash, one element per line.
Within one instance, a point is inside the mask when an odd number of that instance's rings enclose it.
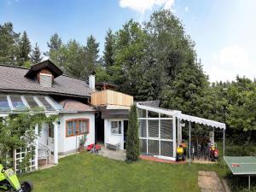
<path fill-rule="evenodd" d="M 191 122 L 220 128 L 223 134 L 226 128 L 224 123 L 183 114 L 177 110 L 150 106 L 144 102 L 137 102 L 137 109 L 140 153 L 160 159 L 176 160 L 177 144 L 182 142 L 182 122 L 189 122 L 189 146 L 191 146 Z M 189 153 L 190 151 L 189 149 Z"/>

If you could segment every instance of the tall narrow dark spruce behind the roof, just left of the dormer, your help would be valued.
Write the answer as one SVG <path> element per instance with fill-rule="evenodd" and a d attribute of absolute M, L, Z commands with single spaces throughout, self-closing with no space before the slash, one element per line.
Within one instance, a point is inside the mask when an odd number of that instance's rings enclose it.
<path fill-rule="evenodd" d="M 18 65 L 24 66 L 26 61 L 29 61 L 29 54 L 31 51 L 30 40 L 27 37 L 26 31 L 23 32 L 19 40 L 19 55 L 18 55 Z"/>

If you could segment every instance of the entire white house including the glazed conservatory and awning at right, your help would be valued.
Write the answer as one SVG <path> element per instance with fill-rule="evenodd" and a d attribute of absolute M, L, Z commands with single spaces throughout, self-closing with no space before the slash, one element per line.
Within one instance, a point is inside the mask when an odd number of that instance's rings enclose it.
<path fill-rule="evenodd" d="M 77 152 L 84 139 L 84 146 L 102 143 L 106 148 L 124 150 L 133 97 L 115 88 L 96 83 L 94 75 L 88 82 L 63 75 L 49 60 L 30 69 L 0 65 L 0 117 L 29 108 L 43 108 L 45 115 L 57 117 L 42 125 L 41 131 L 39 125 L 35 127 L 38 139 L 35 148 L 28 149 L 35 153 L 26 171 L 37 170 L 38 162 L 47 163 L 50 158 L 57 164 L 60 155 Z M 182 121 L 225 129 L 216 121 L 158 108 L 158 104 L 137 102 L 141 154 L 175 160 L 177 144 L 182 141 Z M 28 152 L 27 148 L 15 149 L 16 172 L 21 172 L 20 161 Z"/>

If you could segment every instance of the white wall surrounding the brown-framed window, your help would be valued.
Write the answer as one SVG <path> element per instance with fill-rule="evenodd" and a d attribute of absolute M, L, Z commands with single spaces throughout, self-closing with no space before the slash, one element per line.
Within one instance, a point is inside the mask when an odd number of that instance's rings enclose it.
<path fill-rule="evenodd" d="M 89 119 L 89 134 L 87 135 L 86 143 L 84 144 L 94 144 L 95 143 L 95 113 L 62 113 L 60 114 L 60 131 L 59 131 L 59 153 L 67 154 L 75 152 L 76 146 L 79 148 L 79 141 L 83 135 L 77 137 L 66 137 L 66 121 L 68 119 L 84 118 Z"/>

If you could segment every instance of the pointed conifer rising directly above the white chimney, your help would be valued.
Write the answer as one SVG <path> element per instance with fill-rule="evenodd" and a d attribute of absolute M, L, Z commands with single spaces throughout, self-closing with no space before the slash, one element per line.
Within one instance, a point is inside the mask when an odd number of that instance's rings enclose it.
<path fill-rule="evenodd" d="M 99 43 L 96 42 L 96 38 L 90 35 L 87 38 L 87 44 L 85 47 L 85 68 L 86 75 L 90 75 L 96 71 L 96 66 L 99 63 Z"/>

